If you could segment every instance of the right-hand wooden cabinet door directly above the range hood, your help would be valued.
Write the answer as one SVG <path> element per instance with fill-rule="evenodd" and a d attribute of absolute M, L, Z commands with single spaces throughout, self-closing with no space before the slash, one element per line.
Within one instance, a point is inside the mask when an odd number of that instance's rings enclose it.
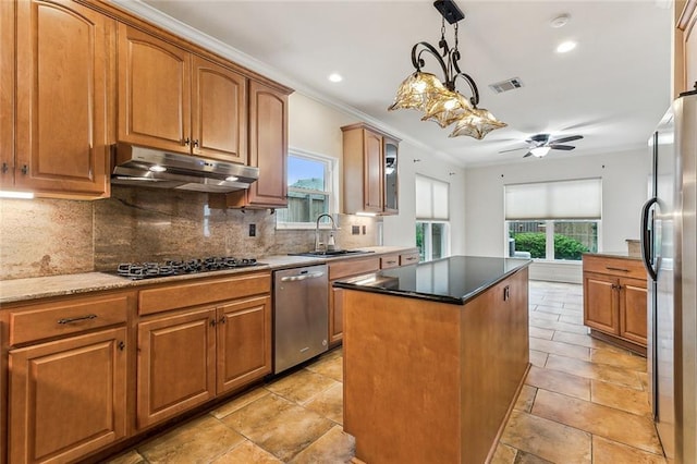
<path fill-rule="evenodd" d="M 246 77 L 196 56 L 192 66 L 193 152 L 246 164 Z"/>

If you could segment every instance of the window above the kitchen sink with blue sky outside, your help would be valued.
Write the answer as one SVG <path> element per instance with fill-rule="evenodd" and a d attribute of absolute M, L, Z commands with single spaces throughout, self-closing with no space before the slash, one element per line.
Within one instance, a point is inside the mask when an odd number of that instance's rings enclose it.
<path fill-rule="evenodd" d="M 277 229 L 314 228 L 319 215 L 337 210 L 335 163 L 322 155 L 289 152 L 288 208 L 277 210 Z"/>

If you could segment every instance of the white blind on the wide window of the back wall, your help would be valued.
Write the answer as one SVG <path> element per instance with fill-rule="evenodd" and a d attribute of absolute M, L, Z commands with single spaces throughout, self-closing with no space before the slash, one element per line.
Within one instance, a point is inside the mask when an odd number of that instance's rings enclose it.
<path fill-rule="evenodd" d="M 505 220 L 600 219 L 601 179 L 505 185 Z"/>

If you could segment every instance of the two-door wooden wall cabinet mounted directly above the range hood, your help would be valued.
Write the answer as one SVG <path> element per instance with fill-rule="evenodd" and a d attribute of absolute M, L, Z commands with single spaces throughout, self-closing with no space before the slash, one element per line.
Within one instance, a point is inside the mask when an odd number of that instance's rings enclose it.
<path fill-rule="evenodd" d="M 246 77 L 119 24 L 119 142 L 246 163 Z"/>

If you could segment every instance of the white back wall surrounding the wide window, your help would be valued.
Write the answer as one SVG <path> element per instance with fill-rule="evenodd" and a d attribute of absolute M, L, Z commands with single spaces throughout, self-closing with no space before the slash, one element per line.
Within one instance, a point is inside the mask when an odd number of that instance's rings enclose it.
<path fill-rule="evenodd" d="M 599 252 L 626 252 L 627 239 L 639 237 L 639 213 L 647 198 L 650 157 L 646 151 L 625 151 L 588 157 L 564 157 L 552 151 L 546 158 L 470 168 L 465 171 L 465 253 L 504 256 L 503 186 L 584 178 L 602 179 L 602 223 Z M 572 265 L 573 266 L 573 265 Z M 540 271 L 537 270 L 533 273 Z M 580 280 L 579 266 L 549 269 Z M 542 278 L 538 276 L 539 278 Z M 547 277 L 545 277 L 547 278 Z"/>

